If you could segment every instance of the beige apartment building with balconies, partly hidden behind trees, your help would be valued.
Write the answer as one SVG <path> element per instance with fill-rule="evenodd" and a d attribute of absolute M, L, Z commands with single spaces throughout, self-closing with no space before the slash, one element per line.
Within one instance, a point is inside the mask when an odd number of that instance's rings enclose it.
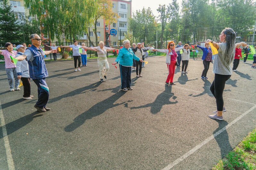
<path fill-rule="evenodd" d="M 29 9 L 24 7 L 24 1 L 23 0 L 10 0 L 10 4 L 12 5 L 12 10 L 15 12 L 15 17 L 17 19 L 22 19 L 24 16 L 29 16 Z M 98 19 L 97 21 L 97 36 L 98 36 L 98 42 L 104 41 L 106 42 L 106 31 L 109 34 L 110 29 L 115 29 L 117 31 L 116 35 L 110 35 L 108 38 L 108 45 L 115 46 L 120 45 L 120 40 L 124 40 L 124 35 L 127 32 L 127 26 L 129 18 L 131 18 L 132 13 L 132 0 L 125 1 L 125 0 L 112 0 L 112 11 L 117 13 L 120 18 L 116 19 L 116 23 L 112 24 L 106 24 L 105 20 L 103 18 Z M 29 18 L 30 19 L 30 18 Z M 44 27 L 42 25 L 42 27 Z M 105 29 L 106 27 L 106 29 Z M 90 29 L 90 32 L 89 32 Z M 88 28 L 88 32 L 90 35 L 90 41 L 94 45 L 98 45 L 98 42 L 96 43 L 95 34 L 93 32 L 94 25 Z M 85 30 L 86 32 L 86 30 Z M 45 41 L 48 41 L 48 35 L 41 34 L 41 38 Z M 51 43 L 58 43 L 57 39 L 50 40 Z M 89 43 L 89 37 L 87 35 L 84 35 L 83 37 L 78 38 L 78 43 L 81 44 L 82 42 L 85 43 L 87 46 L 92 46 Z M 70 44 L 70 42 L 68 42 Z"/>

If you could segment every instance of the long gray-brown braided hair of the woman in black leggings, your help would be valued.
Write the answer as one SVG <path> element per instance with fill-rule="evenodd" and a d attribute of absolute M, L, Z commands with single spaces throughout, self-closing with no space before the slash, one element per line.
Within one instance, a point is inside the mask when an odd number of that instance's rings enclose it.
<path fill-rule="evenodd" d="M 227 65 L 230 65 L 234 59 L 234 51 L 235 51 L 235 31 L 232 28 L 225 28 L 222 32 L 226 35 L 226 51 L 224 60 Z"/>

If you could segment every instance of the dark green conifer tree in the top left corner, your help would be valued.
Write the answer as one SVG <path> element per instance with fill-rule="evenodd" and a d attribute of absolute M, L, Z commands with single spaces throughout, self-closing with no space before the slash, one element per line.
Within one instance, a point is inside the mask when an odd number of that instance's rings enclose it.
<path fill-rule="evenodd" d="M 12 11 L 11 5 L 8 5 L 7 0 L 0 2 L 0 41 L 1 42 L 16 42 L 19 35 L 17 19 Z"/>

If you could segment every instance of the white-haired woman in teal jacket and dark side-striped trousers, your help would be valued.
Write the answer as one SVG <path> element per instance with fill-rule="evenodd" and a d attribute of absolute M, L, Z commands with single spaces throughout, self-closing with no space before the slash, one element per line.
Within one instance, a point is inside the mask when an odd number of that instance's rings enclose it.
<path fill-rule="evenodd" d="M 142 62 L 142 59 L 135 56 L 130 48 L 130 41 L 123 41 L 124 48 L 120 49 L 114 65 L 119 62 L 120 74 L 121 74 L 121 90 L 128 91 L 131 88 L 131 71 L 132 71 L 132 59 Z"/>

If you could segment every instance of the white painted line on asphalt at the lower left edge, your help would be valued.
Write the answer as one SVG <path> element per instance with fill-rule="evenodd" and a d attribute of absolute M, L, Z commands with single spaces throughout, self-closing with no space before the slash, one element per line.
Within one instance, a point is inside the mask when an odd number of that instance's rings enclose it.
<path fill-rule="evenodd" d="M 0 101 L 0 119 L 1 119 L 1 127 L 2 127 L 2 131 L 3 131 L 3 136 L 4 136 L 4 147 L 5 147 L 5 151 L 6 151 L 8 167 L 9 167 L 9 169 L 15 169 L 14 163 L 13 163 L 12 152 L 11 152 L 11 148 L 10 148 L 10 144 L 9 144 L 9 139 L 8 139 L 8 135 L 7 135 L 6 127 L 5 127 L 1 101 Z"/>

